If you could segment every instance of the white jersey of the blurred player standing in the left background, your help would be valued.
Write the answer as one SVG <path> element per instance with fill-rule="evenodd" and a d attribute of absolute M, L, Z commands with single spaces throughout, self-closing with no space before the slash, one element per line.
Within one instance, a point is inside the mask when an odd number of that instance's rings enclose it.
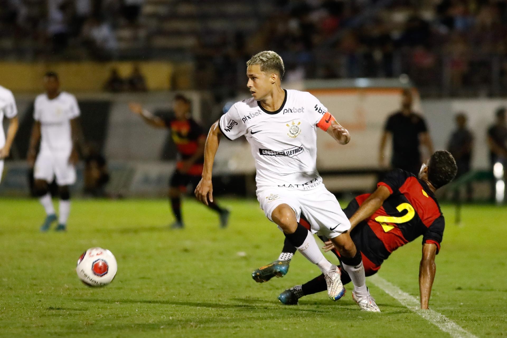
<path fill-rule="evenodd" d="M 72 94 L 61 92 L 50 100 L 46 94 L 35 99 L 33 119 L 41 123 L 41 153 L 70 154 L 72 137 L 70 120 L 80 115 L 78 101 Z"/>

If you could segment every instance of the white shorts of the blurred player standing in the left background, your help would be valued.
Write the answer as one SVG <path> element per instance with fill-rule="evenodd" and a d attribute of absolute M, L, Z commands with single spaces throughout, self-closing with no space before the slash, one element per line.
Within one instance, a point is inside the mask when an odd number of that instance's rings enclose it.
<path fill-rule="evenodd" d="M 68 154 L 40 153 L 33 168 L 33 178 L 51 183 L 56 176 L 56 184 L 60 186 L 76 183 L 76 168 L 68 163 L 68 158 Z"/>

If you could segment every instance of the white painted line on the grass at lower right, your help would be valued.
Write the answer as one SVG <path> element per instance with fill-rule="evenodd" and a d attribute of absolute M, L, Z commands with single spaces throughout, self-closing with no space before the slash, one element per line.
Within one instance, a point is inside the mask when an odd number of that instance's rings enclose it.
<path fill-rule="evenodd" d="M 381 288 L 385 293 L 396 299 L 396 301 L 400 302 L 403 306 L 414 311 L 431 324 L 436 325 L 442 331 L 449 333 L 453 338 L 478 338 L 476 335 L 466 331 L 464 328 L 437 311 L 431 309 L 422 311 L 420 309 L 421 305 L 418 299 L 407 292 L 402 291 L 402 289 L 389 283 L 382 277 L 375 275 L 370 277 L 369 280 Z"/>

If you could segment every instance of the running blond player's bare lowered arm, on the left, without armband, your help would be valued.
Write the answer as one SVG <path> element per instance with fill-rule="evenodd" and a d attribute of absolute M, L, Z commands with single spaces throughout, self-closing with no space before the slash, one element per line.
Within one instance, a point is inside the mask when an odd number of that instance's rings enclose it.
<path fill-rule="evenodd" d="M 195 196 L 199 201 L 208 205 L 208 199 L 213 202 L 213 185 L 211 184 L 211 172 L 213 170 L 213 162 L 215 160 L 216 151 L 220 144 L 219 121 L 213 123 L 206 138 L 206 145 L 204 146 L 204 169 L 202 170 L 202 178 L 197 184 L 194 191 Z"/>

